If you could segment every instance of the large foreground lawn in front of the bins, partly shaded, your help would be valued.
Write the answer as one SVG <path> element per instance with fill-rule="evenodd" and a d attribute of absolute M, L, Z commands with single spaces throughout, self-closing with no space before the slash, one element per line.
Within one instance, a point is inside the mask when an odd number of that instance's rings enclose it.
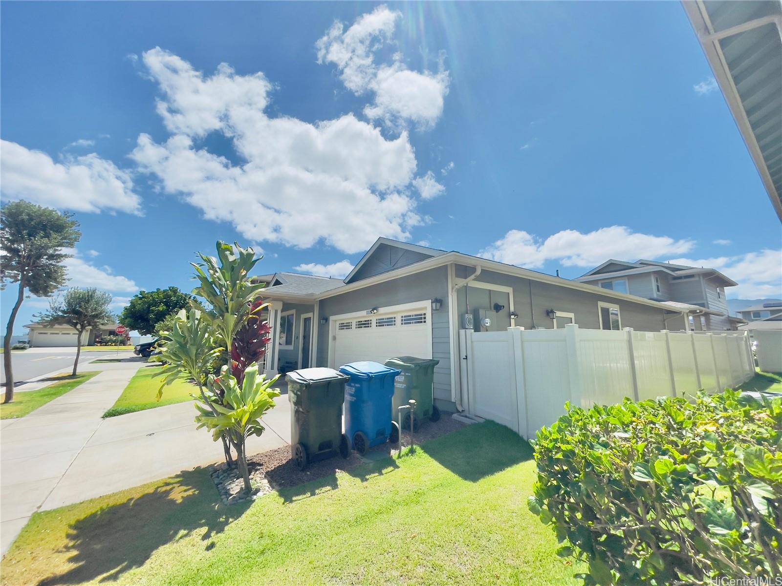
<path fill-rule="evenodd" d="M 35 513 L 2 584 L 577 584 L 527 509 L 534 478 L 529 444 L 491 422 L 250 506 L 187 471 Z"/>

